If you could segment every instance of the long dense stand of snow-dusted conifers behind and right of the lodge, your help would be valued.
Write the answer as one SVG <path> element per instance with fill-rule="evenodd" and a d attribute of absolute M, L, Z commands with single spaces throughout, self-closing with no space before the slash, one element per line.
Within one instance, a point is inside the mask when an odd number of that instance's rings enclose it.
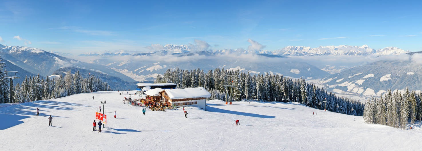
<path fill-rule="evenodd" d="M 253 75 L 239 70 L 229 71 L 224 68 L 193 71 L 168 69 L 163 77 L 157 76 L 155 83 L 176 83 L 178 88 L 202 86 L 211 93 L 209 99 L 225 100 L 224 85 L 234 87 L 234 100 L 260 100 L 279 102 L 300 102 L 312 108 L 324 109 L 337 113 L 362 116 L 364 105 L 357 100 L 337 97 L 304 79 L 291 79 L 280 75 Z"/>

